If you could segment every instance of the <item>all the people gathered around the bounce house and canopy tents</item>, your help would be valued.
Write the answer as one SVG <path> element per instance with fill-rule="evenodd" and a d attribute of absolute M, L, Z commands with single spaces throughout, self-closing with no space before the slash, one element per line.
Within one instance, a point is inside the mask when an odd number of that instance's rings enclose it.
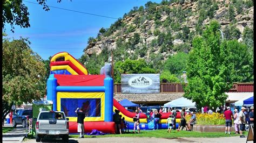
<path fill-rule="evenodd" d="M 241 108 L 241 111 L 239 112 L 238 109 L 234 109 L 234 111 L 231 111 L 231 108 L 229 106 L 227 107 L 220 107 L 215 110 L 217 113 L 223 113 L 223 117 L 225 118 L 225 134 L 231 134 L 231 127 L 232 127 L 232 119 L 234 123 L 235 128 L 235 134 L 240 133 L 240 138 L 244 138 L 245 136 L 242 135 L 242 132 L 245 131 L 245 124 L 254 124 L 254 108 L 251 106 L 249 109 L 246 109 L 245 107 Z M 78 132 L 80 133 L 79 138 L 84 138 L 84 118 L 85 118 L 85 111 L 83 111 L 83 108 L 77 108 L 75 111 L 78 115 L 77 123 L 78 123 Z M 113 115 L 113 121 L 116 124 L 116 133 L 122 134 L 126 132 L 127 123 L 125 121 L 125 117 L 122 117 L 122 115 L 119 115 L 119 110 L 114 110 Z M 163 108 L 160 108 L 159 111 L 157 109 L 150 110 L 149 114 L 149 120 L 153 123 L 153 130 L 158 130 L 159 128 L 159 120 L 161 117 L 160 113 L 163 113 Z M 177 118 L 177 108 L 169 108 L 167 112 L 171 112 L 169 118 L 167 118 L 166 125 L 168 126 L 167 132 L 171 133 L 171 130 L 176 130 L 176 118 Z M 179 111 L 178 111 L 179 112 Z M 143 111 L 140 108 L 137 108 L 135 110 L 136 116 L 133 117 L 134 126 L 133 126 L 133 133 L 140 133 L 140 113 L 143 113 Z M 213 108 L 204 108 L 202 109 L 201 113 L 213 113 Z M 180 113 L 180 124 L 177 131 L 183 130 L 183 128 L 186 128 L 186 131 L 192 131 L 193 125 L 196 124 L 196 111 L 191 112 L 191 118 L 190 120 L 186 121 L 185 118 L 185 108 L 181 110 Z"/>

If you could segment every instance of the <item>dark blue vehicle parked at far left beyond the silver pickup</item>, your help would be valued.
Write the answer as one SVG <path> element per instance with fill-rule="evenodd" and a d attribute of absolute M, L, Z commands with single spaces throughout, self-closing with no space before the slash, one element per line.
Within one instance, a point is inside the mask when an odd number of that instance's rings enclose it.
<path fill-rule="evenodd" d="M 12 126 L 16 128 L 17 125 L 22 125 L 26 127 L 26 118 L 32 118 L 32 109 L 20 109 L 17 110 L 12 117 Z"/>

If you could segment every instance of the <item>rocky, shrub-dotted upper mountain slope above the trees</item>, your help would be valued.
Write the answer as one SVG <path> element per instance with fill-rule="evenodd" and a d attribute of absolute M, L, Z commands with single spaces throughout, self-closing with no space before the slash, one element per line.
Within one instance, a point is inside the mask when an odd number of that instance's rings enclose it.
<path fill-rule="evenodd" d="M 133 8 L 110 28 L 102 28 L 84 52 L 90 56 L 104 49 L 116 49 L 116 60 L 150 59 L 154 54 L 165 60 L 177 52 L 190 51 L 192 38 L 200 35 L 213 19 L 221 24 L 225 38 L 241 41 L 244 28 L 253 29 L 253 2 L 148 2 L 145 9 Z"/>

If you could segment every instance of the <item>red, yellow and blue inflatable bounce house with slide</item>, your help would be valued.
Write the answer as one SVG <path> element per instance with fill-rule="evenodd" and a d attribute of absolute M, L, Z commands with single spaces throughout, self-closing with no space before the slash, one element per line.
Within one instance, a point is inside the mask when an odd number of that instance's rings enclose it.
<path fill-rule="evenodd" d="M 113 79 L 111 65 L 106 63 L 100 69 L 100 75 L 89 75 L 87 69 L 67 52 L 52 56 L 50 76 L 47 81 L 47 99 L 53 102 L 53 111 L 63 111 L 69 118 L 70 133 L 77 133 L 77 108 L 83 108 L 85 132 L 92 130 L 115 133 L 113 113 L 117 109 L 120 115 L 133 128 L 135 113 L 127 111 L 113 99 Z M 177 112 L 177 118 L 180 118 Z M 170 113 L 161 113 L 159 128 L 167 128 L 166 120 Z M 177 123 L 180 119 L 176 120 Z M 149 120 L 140 115 L 141 129 L 148 129 Z"/>

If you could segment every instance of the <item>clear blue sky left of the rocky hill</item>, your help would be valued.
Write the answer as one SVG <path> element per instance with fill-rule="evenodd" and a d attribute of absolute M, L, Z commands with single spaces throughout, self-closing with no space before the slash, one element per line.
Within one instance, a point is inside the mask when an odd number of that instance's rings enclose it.
<path fill-rule="evenodd" d="M 26 1 L 37 3 L 36 0 Z M 6 24 L 5 33 L 9 38 L 29 38 L 32 50 L 44 60 L 58 52 L 68 52 L 76 59 L 80 58 L 83 49 L 87 46 L 88 38 L 97 37 L 100 28 L 109 28 L 117 20 L 56 8 L 44 11 L 42 5 L 28 2 L 23 1 L 30 13 L 30 27 L 15 26 L 15 33 L 12 33 L 10 25 Z M 122 18 L 124 13 L 128 13 L 134 6 L 145 7 L 147 2 L 147 0 L 62 0 L 57 3 L 57 0 L 50 0 L 46 3 L 63 9 Z M 161 0 L 151 2 L 160 3 Z"/>

